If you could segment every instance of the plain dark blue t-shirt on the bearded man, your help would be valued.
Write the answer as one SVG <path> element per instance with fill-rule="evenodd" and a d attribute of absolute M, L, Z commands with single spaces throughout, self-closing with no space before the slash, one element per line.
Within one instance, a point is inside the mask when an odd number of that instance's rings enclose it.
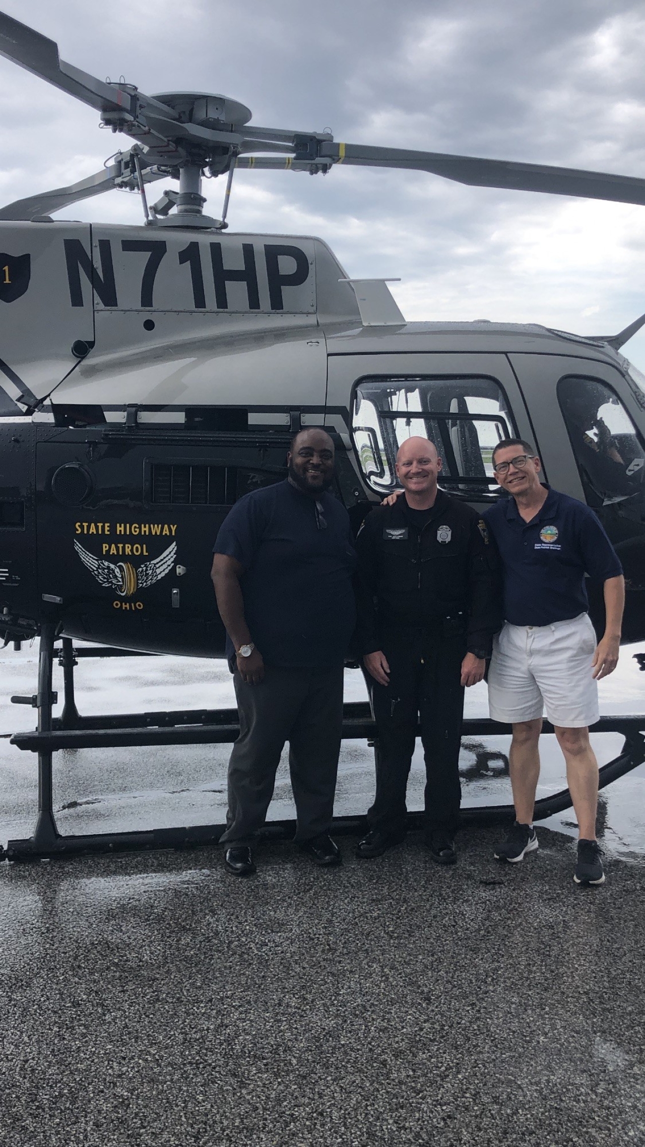
<path fill-rule="evenodd" d="M 251 640 L 270 665 L 331 668 L 353 632 L 356 549 L 348 513 L 331 493 L 316 499 L 279 482 L 235 502 L 216 554 L 236 557 Z M 326 523 L 326 524 L 324 524 Z M 227 639 L 227 655 L 234 655 Z"/>

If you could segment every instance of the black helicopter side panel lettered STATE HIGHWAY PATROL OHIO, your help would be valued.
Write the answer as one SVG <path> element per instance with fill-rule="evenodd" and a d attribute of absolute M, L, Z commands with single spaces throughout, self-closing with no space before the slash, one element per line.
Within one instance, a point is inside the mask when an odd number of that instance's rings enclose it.
<path fill-rule="evenodd" d="M 285 477 L 288 437 L 118 436 L 37 444 L 38 585 L 65 632 L 131 648 L 224 650 L 209 572 L 231 506 Z M 246 440 L 244 440 L 246 439 Z"/>

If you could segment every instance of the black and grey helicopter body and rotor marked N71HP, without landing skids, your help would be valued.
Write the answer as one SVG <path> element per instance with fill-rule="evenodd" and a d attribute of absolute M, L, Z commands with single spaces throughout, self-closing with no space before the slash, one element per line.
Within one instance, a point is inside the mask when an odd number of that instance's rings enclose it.
<path fill-rule="evenodd" d="M 65 63 L 0 14 L 0 54 L 129 138 L 95 175 L 0 209 L 0 633 L 224 655 L 209 578 L 218 528 L 325 427 L 358 528 L 421 434 L 442 485 L 483 510 L 495 444 L 534 443 L 546 479 L 593 507 L 627 579 L 623 640 L 645 639 L 645 379 L 614 336 L 539 325 L 406 322 L 386 280 L 352 280 L 318 237 L 233 234 L 233 173 L 341 164 L 645 204 L 645 180 L 336 142 L 256 127 L 210 93 L 148 96 Z M 202 178 L 226 175 L 222 218 Z M 148 203 L 147 188 L 179 180 Z M 111 188 L 141 226 L 55 220 Z M 603 604 L 591 587 L 591 616 Z"/>

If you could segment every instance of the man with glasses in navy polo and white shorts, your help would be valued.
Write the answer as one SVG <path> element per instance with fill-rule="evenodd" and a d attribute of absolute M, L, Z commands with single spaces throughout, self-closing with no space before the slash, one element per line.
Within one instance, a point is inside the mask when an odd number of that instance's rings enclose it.
<path fill-rule="evenodd" d="M 490 716 L 513 726 L 510 752 L 515 822 L 495 853 L 516 864 L 537 849 L 533 827 L 542 717 L 552 723 L 567 763 L 580 828 L 576 883 L 605 880 L 596 841 L 598 763 L 589 726 L 598 720 L 597 681 L 619 660 L 624 579 L 593 510 L 539 481 L 539 459 L 519 438 L 492 452 L 499 485 L 511 497 L 484 517 L 502 556 L 505 624 L 495 639 Z M 584 576 L 604 586 L 606 626 L 596 643 Z"/>

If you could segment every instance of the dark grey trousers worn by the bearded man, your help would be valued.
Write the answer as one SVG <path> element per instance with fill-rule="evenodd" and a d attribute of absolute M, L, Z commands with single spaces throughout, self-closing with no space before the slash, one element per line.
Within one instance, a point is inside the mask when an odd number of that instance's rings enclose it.
<path fill-rule="evenodd" d="M 329 830 L 343 720 L 343 666 L 265 666 L 259 685 L 233 685 L 240 736 L 228 762 L 228 811 L 220 843 L 249 844 L 264 825 L 275 772 L 289 742 L 289 772 L 296 804 L 296 841 Z"/>

